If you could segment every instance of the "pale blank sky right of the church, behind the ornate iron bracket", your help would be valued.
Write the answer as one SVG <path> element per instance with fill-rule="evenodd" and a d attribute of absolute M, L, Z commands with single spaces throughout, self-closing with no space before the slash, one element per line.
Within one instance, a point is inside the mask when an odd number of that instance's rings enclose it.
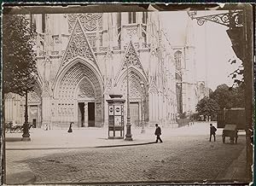
<path fill-rule="evenodd" d="M 225 13 L 224 11 L 201 11 L 198 15 L 214 15 Z M 169 33 L 173 44 L 178 44 L 186 38 L 186 29 L 189 16 L 185 11 L 161 13 L 165 22 L 166 31 Z M 168 24 L 166 24 L 168 23 Z M 236 59 L 236 55 L 231 48 L 230 38 L 226 33 L 227 26 L 222 26 L 211 21 L 207 21 L 203 26 L 197 25 L 196 20 L 192 20 L 192 29 L 195 34 L 195 60 L 196 73 L 199 80 L 207 79 L 207 86 L 215 90 L 219 84 L 233 84 L 233 79 L 228 77 L 236 68 L 241 65 L 241 61 L 230 65 L 230 59 Z M 172 37 L 175 35 L 179 37 Z"/>

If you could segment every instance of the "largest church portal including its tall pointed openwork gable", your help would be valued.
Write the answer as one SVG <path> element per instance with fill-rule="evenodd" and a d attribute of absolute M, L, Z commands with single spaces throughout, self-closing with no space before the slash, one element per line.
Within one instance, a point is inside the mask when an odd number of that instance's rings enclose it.
<path fill-rule="evenodd" d="M 55 121 L 78 126 L 103 125 L 102 74 L 96 56 L 77 19 L 55 78 Z M 62 121 L 61 121 L 62 125 Z"/>

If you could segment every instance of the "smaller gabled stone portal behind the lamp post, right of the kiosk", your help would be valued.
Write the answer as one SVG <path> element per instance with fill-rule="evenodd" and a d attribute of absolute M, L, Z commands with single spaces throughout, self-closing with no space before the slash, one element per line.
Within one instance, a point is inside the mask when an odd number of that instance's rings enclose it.
<path fill-rule="evenodd" d="M 129 67 L 131 125 L 140 125 L 143 120 L 148 120 L 148 79 L 132 42 L 125 51 L 115 80 L 124 97 L 127 96 L 127 67 Z M 141 82 L 145 85 L 144 88 L 141 87 Z"/>

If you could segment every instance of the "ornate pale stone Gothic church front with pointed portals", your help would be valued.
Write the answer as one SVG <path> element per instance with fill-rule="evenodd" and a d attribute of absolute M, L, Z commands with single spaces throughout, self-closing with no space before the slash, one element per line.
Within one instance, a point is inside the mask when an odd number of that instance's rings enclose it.
<path fill-rule="evenodd" d="M 108 93 L 126 100 L 131 125 L 170 125 L 198 102 L 195 46 L 174 46 L 153 12 L 32 15 L 38 67 L 28 97 L 29 121 L 40 127 L 108 125 Z M 127 73 L 128 67 L 128 73 Z M 24 122 L 24 97 L 5 96 L 5 119 Z M 125 118 L 126 118 L 125 102 Z M 125 119 L 126 123 L 126 119 Z"/>

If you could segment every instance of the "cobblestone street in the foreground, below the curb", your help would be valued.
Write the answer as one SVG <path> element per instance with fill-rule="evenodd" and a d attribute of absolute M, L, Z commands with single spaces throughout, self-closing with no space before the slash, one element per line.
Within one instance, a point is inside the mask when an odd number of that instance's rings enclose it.
<path fill-rule="evenodd" d="M 219 134 L 217 142 L 195 134 L 163 140 L 116 148 L 7 150 L 7 171 L 27 166 L 35 183 L 248 181 L 225 177 L 245 148 L 245 136 L 237 144 L 224 144 Z"/>

